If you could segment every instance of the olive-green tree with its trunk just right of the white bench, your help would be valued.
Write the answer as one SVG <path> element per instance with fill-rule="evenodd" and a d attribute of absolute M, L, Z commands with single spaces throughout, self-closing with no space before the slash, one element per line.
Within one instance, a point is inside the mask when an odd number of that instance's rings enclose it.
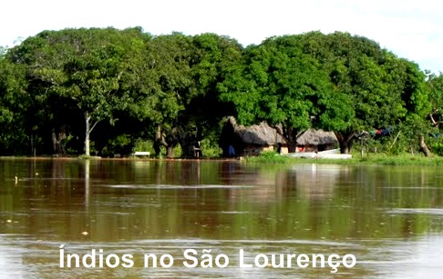
<path fill-rule="evenodd" d="M 158 155 L 163 145 L 172 157 L 179 144 L 178 119 L 191 97 L 190 58 L 190 36 L 156 36 L 146 44 L 134 69 L 137 79 L 127 84 L 135 93 L 131 115 L 148 124 Z"/>

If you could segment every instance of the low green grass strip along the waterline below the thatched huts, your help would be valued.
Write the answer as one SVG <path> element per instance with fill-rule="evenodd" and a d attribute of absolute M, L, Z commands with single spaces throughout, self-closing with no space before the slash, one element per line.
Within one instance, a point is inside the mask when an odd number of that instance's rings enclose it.
<path fill-rule="evenodd" d="M 319 158 L 294 158 L 276 153 L 263 153 L 260 156 L 246 157 L 248 163 L 268 164 L 385 164 L 385 165 L 443 165 L 443 157 L 425 157 L 422 154 L 353 154 L 352 159 L 319 159 Z"/>

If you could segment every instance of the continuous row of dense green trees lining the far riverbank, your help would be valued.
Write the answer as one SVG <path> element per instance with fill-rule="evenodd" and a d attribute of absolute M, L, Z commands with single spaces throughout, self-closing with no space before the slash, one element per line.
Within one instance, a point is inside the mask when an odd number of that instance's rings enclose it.
<path fill-rule="evenodd" d="M 0 51 L 0 155 L 129 154 L 145 140 L 191 156 L 217 143 L 229 115 L 266 121 L 290 151 L 309 127 L 334 131 L 343 153 L 362 131 L 394 127 L 390 148 L 428 153 L 442 112 L 443 75 L 341 32 L 243 47 L 215 34 L 65 29 Z"/>

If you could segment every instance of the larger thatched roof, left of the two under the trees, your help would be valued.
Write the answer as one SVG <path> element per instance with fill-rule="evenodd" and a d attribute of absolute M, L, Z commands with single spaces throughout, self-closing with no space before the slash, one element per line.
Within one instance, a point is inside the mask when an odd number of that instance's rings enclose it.
<path fill-rule="evenodd" d="M 245 127 L 237 125 L 234 117 L 229 117 L 228 122 L 234 128 L 234 134 L 238 135 L 244 144 L 273 145 L 284 143 L 282 135 L 278 135 L 273 127 L 262 122 L 260 125 Z"/>

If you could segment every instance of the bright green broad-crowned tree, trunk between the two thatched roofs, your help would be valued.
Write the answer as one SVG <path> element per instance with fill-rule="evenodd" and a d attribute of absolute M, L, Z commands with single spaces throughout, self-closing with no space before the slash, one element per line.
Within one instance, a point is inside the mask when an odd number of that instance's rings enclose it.
<path fill-rule="evenodd" d="M 311 126 L 345 128 L 353 117 L 347 95 L 335 90 L 300 37 L 273 37 L 246 49 L 242 65 L 222 85 L 221 100 L 242 124 L 266 121 L 294 152 L 297 136 Z"/>

